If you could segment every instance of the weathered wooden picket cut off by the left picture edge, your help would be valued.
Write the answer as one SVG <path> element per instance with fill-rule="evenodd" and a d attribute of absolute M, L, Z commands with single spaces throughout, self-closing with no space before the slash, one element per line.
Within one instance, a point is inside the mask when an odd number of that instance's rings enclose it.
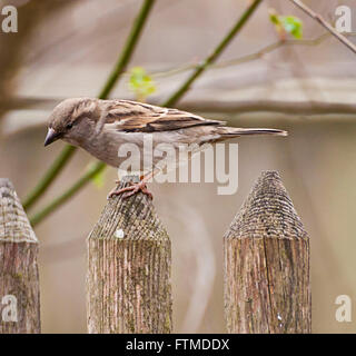
<path fill-rule="evenodd" d="M 0 178 L 0 334 L 40 333 L 38 239 L 9 179 Z"/>

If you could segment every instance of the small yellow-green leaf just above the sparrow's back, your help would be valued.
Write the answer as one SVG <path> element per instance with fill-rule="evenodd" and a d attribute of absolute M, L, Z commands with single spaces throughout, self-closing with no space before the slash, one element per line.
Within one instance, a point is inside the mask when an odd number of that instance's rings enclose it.
<path fill-rule="evenodd" d="M 134 67 L 130 70 L 129 87 L 138 101 L 145 101 L 157 89 L 155 81 L 142 67 Z"/>

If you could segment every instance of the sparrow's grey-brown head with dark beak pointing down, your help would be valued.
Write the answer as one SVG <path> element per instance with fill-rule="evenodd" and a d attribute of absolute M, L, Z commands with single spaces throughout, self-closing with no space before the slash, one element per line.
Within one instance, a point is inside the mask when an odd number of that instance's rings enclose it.
<path fill-rule="evenodd" d="M 49 117 L 44 146 L 58 139 L 80 146 L 90 136 L 99 117 L 98 99 L 72 98 L 61 101 Z"/>

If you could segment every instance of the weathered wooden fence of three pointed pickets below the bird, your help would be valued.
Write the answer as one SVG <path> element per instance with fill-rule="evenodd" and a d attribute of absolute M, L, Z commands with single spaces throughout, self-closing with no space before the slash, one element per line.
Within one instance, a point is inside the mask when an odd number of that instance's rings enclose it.
<path fill-rule="evenodd" d="M 38 240 L 7 179 L 0 209 L 0 333 L 40 333 Z M 110 199 L 87 244 L 89 333 L 171 333 L 171 245 L 151 200 Z M 278 172 L 253 187 L 224 255 L 228 333 L 312 332 L 309 238 Z"/>

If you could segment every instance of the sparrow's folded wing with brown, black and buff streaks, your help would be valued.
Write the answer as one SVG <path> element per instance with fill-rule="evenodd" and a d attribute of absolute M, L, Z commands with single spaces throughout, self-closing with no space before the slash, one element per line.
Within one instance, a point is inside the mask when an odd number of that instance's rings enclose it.
<path fill-rule="evenodd" d="M 207 120 L 186 111 L 130 100 L 112 101 L 105 121 L 123 132 L 157 132 L 195 126 L 225 125 L 222 121 Z"/>

